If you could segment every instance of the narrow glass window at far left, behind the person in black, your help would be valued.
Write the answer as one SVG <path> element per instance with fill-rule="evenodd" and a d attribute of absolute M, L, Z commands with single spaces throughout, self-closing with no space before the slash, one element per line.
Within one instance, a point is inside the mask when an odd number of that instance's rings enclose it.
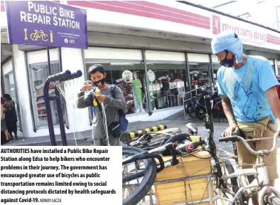
<path fill-rule="evenodd" d="M 15 102 L 15 107 L 16 107 L 16 116 L 18 117 L 18 107 L 17 107 L 17 102 L 16 102 L 16 87 L 14 83 L 14 73 L 8 73 L 4 75 L 4 82 L 5 82 L 5 93 L 4 94 L 9 94 L 11 96 L 11 99 L 14 100 Z M 18 128 L 19 128 L 19 117 L 18 117 L 18 122 L 16 123 Z"/>

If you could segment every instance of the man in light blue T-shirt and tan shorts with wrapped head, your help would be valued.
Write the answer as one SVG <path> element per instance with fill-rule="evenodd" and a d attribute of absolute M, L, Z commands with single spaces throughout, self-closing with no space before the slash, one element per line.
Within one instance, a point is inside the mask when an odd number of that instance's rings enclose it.
<path fill-rule="evenodd" d="M 269 61 L 262 56 L 245 55 L 236 33 L 220 33 L 213 38 L 211 46 L 222 65 L 217 71 L 217 88 L 229 122 L 222 136 L 241 132 L 246 139 L 273 137 L 275 124 L 277 131 L 280 130 L 280 100 L 276 91 L 279 83 Z M 254 141 L 251 145 L 260 150 L 271 149 L 272 144 L 271 139 Z M 242 142 L 237 142 L 237 152 L 239 163 L 256 164 L 257 157 Z M 278 178 L 276 152 L 265 156 L 271 186 Z M 251 167 L 242 166 L 242 169 L 246 168 Z M 257 197 L 253 197 L 253 204 L 258 204 Z"/>

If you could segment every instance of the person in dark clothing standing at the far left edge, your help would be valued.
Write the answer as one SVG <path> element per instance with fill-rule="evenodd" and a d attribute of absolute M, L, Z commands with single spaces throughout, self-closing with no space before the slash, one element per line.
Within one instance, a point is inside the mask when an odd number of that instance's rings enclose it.
<path fill-rule="evenodd" d="M 14 140 L 13 132 L 15 138 L 18 139 L 18 135 L 17 135 L 18 127 L 16 125 L 16 122 L 18 122 L 18 117 L 16 116 L 16 105 L 14 100 L 11 99 L 11 96 L 9 94 L 4 95 L 4 109 L 5 109 L 6 125 L 11 140 Z"/>

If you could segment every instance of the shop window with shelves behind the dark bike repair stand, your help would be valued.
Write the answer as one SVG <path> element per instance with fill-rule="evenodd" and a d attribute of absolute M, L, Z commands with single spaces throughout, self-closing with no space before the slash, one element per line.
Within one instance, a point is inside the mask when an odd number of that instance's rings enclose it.
<path fill-rule="evenodd" d="M 47 126 L 48 125 L 48 118 L 47 112 L 45 110 L 45 100 L 43 97 L 43 86 L 45 80 L 48 78 L 49 75 L 53 75 L 55 73 L 60 72 L 60 65 L 59 63 L 51 63 L 50 64 L 50 73 L 48 69 L 48 63 L 36 64 L 36 65 L 29 65 L 30 73 L 31 73 L 31 90 L 32 90 L 32 100 L 33 100 L 33 111 L 34 117 L 36 119 L 36 125 L 38 127 Z M 54 83 L 50 83 L 49 94 L 53 95 L 55 92 L 55 85 Z M 62 102 L 63 104 L 63 102 Z M 65 105 L 63 105 L 63 117 L 65 122 Z M 58 109 L 57 104 L 55 101 L 50 101 L 50 107 L 52 110 L 52 117 L 53 117 L 53 125 L 58 125 Z"/>

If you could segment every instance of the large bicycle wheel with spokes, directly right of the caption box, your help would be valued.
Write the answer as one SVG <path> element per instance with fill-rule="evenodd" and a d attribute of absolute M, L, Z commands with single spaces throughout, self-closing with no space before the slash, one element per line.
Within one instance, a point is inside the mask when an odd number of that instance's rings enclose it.
<path fill-rule="evenodd" d="M 140 149 L 138 147 L 131 147 L 131 146 L 124 146 L 122 147 L 122 154 L 139 154 L 141 152 L 144 152 L 144 149 Z M 156 161 L 155 159 L 143 159 L 141 160 L 144 162 L 145 167 L 145 173 L 144 173 L 144 177 L 142 179 L 142 181 L 140 183 L 137 184 L 126 184 L 123 183 L 123 199 L 122 199 L 122 204 L 123 205 L 135 205 L 137 204 L 139 201 L 141 201 L 141 199 L 144 198 L 144 196 L 146 196 L 146 194 L 150 191 L 151 186 L 153 186 L 154 181 L 156 179 L 156 172 L 157 172 L 157 167 L 156 167 Z M 135 162 L 136 163 L 136 169 L 140 169 L 139 166 L 139 162 Z M 126 164 L 124 166 L 127 166 L 129 164 Z M 132 164 L 131 164 L 132 165 Z M 123 177 L 124 177 L 124 169 L 128 169 L 128 167 L 124 168 L 123 166 Z M 135 179 L 134 181 L 139 181 L 139 179 Z M 133 182 L 133 181 L 132 181 Z M 129 186 L 132 188 L 132 191 L 130 191 L 130 195 L 127 196 L 124 199 L 124 187 Z M 129 191 L 127 191 L 129 192 Z"/>

